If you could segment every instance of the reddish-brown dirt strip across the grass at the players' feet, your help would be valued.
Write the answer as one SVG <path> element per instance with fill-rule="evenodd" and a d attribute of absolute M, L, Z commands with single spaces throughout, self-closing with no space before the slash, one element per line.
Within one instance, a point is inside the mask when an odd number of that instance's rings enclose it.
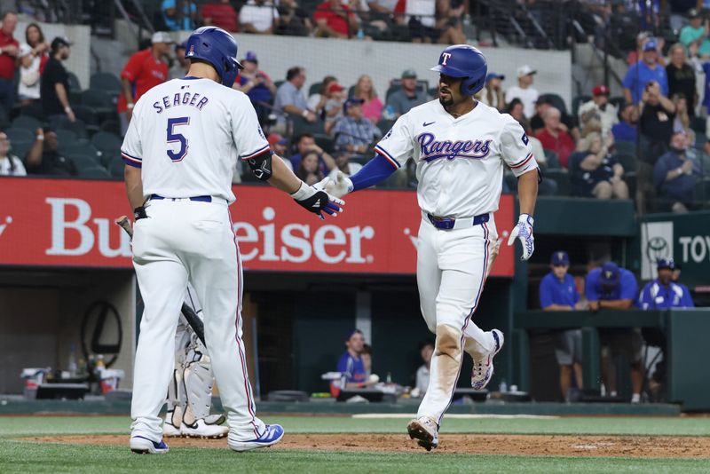
<path fill-rule="evenodd" d="M 126 446 L 128 436 L 51 436 L 26 440 Z M 171 448 L 224 447 L 225 439 L 166 438 Z M 288 434 L 270 449 L 320 451 L 377 451 L 416 453 L 425 451 L 401 434 Z M 431 454 L 519 454 L 562 456 L 617 456 L 659 458 L 710 458 L 710 437 L 669 436 L 540 436 L 442 434 Z"/>

